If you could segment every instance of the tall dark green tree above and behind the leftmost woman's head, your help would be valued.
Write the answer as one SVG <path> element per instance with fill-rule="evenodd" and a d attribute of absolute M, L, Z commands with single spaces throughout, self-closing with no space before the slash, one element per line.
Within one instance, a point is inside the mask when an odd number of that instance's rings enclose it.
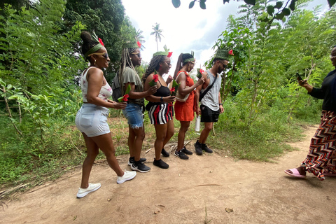
<path fill-rule="evenodd" d="M 67 0 L 64 12 L 64 23 L 61 27 L 68 31 L 81 22 L 88 31 L 93 31 L 102 38 L 111 59 L 106 69 L 106 76 L 114 76 L 120 65 L 123 43 L 134 41 L 136 30 L 130 19 L 125 16 L 125 8 L 120 0 Z M 80 54 L 79 45 L 76 52 Z M 109 82 L 109 80 L 108 80 Z"/>

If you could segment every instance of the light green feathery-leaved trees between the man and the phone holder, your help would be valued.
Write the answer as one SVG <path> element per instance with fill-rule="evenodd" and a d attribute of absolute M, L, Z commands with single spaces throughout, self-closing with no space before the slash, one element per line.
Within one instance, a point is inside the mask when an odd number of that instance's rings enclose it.
<path fill-rule="evenodd" d="M 300 4 L 304 2 L 299 8 Z M 328 55 L 336 35 L 335 27 L 330 26 L 336 22 L 334 9 L 320 18 L 316 16 L 318 8 L 315 12 L 295 10 L 283 26 L 273 22 L 271 27 L 254 16 L 265 10 L 269 10 L 267 4 L 256 4 L 242 10 L 240 18 L 230 17 L 229 30 L 223 31 L 214 45 L 234 50 L 221 95 L 225 100 L 235 92 L 232 99 L 239 102 L 239 118 L 247 126 L 274 106 L 287 114 L 288 121 L 293 119 L 312 102 L 297 85 L 295 73 L 319 87 L 332 70 Z M 206 64 L 210 66 L 211 61 Z"/>

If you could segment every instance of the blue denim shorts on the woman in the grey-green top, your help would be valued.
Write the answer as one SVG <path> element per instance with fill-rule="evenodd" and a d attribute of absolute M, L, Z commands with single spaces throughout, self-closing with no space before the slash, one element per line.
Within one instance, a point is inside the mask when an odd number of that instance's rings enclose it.
<path fill-rule="evenodd" d="M 123 110 L 123 114 L 132 129 L 137 129 L 144 125 L 144 113 L 142 113 L 139 104 L 127 104 L 125 110 Z"/>

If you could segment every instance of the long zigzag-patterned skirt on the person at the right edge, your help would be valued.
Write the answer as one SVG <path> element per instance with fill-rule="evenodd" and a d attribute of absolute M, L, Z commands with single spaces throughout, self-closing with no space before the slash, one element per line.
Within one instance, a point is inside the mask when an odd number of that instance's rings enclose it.
<path fill-rule="evenodd" d="M 324 180 L 324 173 L 336 174 L 336 113 L 322 111 L 321 125 L 311 138 L 309 153 L 302 162 L 307 172 Z"/>

